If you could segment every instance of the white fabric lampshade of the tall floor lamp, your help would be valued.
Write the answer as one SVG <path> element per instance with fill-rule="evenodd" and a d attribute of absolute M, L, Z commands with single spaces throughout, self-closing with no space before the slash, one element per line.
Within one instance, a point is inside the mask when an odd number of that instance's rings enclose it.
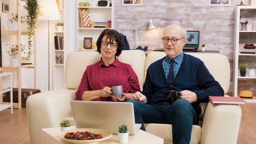
<path fill-rule="evenodd" d="M 42 0 L 40 3 L 43 15 L 39 16 L 39 20 L 44 21 L 59 21 L 61 20 L 56 0 Z"/>

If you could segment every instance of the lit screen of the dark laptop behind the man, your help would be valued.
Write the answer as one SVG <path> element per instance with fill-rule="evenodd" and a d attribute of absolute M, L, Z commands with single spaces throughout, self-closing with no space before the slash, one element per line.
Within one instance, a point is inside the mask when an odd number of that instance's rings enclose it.
<path fill-rule="evenodd" d="M 187 31 L 185 46 L 199 45 L 199 31 Z"/>

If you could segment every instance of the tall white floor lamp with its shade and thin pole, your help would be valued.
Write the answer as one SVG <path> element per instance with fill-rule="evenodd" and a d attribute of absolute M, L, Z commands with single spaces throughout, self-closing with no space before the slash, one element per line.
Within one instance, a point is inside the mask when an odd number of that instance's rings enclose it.
<path fill-rule="evenodd" d="M 48 23 L 48 91 L 50 90 L 50 21 L 60 21 L 61 16 L 58 10 L 56 0 L 42 0 L 40 3 L 42 7 L 42 16 L 39 16 L 39 20 L 47 21 Z"/>

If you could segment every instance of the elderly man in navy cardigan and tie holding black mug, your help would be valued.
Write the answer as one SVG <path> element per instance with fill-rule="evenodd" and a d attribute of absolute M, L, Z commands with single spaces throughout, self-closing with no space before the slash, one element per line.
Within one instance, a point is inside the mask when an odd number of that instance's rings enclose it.
<path fill-rule="evenodd" d="M 135 123 L 172 124 L 174 144 L 189 144 L 192 125 L 198 124 L 200 102 L 208 102 L 209 95 L 223 96 L 224 91 L 204 63 L 183 53 L 186 29 L 179 25 L 167 26 L 163 32 L 166 56 L 152 63 L 142 93 L 133 95 Z M 180 99 L 172 105 L 168 93 L 180 91 Z"/>

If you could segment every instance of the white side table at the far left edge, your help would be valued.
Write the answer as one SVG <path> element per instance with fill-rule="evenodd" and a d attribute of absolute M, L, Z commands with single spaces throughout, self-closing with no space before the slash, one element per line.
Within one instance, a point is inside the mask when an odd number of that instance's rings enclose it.
<path fill-rule="evenodd" d="M 8 91 L 10 91 L 10 104 L 0 104 L 0 111 L 7 109 L 7 108 L 11 108 L 11 114 L 13 114 L 13 105 L 12 105 L 12 72 L 2 72 L 0 73 L 0 77 L 5 77 L 5 76 L 9 76 L 10 77 L 10 88 L 0 88 L 0 94 L 2 93 L 6 93 Z"/>

